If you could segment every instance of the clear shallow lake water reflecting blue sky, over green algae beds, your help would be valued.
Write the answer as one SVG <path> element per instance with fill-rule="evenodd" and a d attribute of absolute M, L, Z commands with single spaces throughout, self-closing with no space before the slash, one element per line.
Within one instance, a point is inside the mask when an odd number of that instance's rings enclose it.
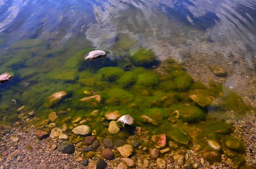
<path fill-rule="evenodd" d="M 173 60 L 160 62 L 175 58 L 183 63 L 188 52 L 218 53 L 222 59 L 245 60 L 253 72 L 255 28 L 255 0 L 0 0 L 0 74 L 14 74 L 0 84 L 1 123 L 23 118 L 17 108 L 25 105 L 25 117 L 35 110 L 39 118 L 31 123 L 47 119 L 52 111 L 67 110 L 55 121 L 59 127 L 66 117 L 82 117 L 96 132 L 109 135 L 100 119 L 117 109 L 135 121 L 140 115 L 154 119 L 158 127 L 137 123 L 148 127 L 150 135 L 165 132 L 179 145 L 207 147 L 207 139 L 225 140 L 223 134 L 231 133 L 232 125 L 225 120 L 238 119 L 251 107 L 225 86 L 207 89 L 193 82 Z M 108 51 L 108 57 L 84 61 L 84 54 L 94 49 Z M 144 64 L 138 58 L 154 61 Z M 67 97 L 47 107 L 49 96 L 59 91 L 67 91 Z M 84 91 L 101 95 L 102 105 L 80 103 L 87 97 Z M 191 95 L 198 100 L 193 102 Z M 96 122 L 89 115 L 95 109 L 100 112 Z M 178 119 L 172 115 L 175 110 Z M 207 115 L 210 112 L 214 116 Z M 120 133 L 115 137 L 127 137 L 125 129 Z"/>

